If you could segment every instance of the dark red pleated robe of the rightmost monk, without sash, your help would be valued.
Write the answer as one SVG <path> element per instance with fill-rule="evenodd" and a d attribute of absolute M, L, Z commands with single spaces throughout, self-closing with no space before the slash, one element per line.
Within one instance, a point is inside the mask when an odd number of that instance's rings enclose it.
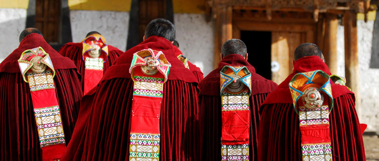
<path fill-rule="evenodd" d="M 293 72 L 267 96 L 261 107 L 259 160 L 301 160 L 299 119 L 293 108 L 288 84 L 294 74 L 317 69 L 331 74 L 318 56 L 298 59 Z M 333 160 L 366 160 L 354 93 L 333 82 L 331 86 L 334 105 L 329 121 Z"/>

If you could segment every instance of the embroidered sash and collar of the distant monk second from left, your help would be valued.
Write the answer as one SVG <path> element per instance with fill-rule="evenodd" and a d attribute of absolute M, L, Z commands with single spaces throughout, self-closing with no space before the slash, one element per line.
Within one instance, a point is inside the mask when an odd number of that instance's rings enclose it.
<path fill-rule="evenodd" d="M 103 36 L 93 34 L 83 41 L 84 94 L 94 88 L 103 77 L 104 63 L 108 59 L 108 45 Z"/>

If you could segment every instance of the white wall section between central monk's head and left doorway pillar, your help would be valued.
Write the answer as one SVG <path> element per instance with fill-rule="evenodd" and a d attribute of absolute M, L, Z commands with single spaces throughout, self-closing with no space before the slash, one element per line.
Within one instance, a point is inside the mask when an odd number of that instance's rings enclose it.
<path fill-rule="evenodd" d="M 213 70 L 213 22 L 203 14 L 174 14 L 174 23 L 179 49 L 207 75 Z"/>

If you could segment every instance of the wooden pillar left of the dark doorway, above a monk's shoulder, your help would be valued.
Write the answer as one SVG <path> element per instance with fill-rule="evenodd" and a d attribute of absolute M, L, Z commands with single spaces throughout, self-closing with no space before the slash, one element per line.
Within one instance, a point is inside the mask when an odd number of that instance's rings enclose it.
<path fill-rule="evenodd" d="M 214 63 L 213 67 L 216 68 L 218 62 L 221 60 L 220 53 L 222 44 L 229 39 L 232 39 L 232 15 L 233 8 L 225 6 L 216 7 L 216 18 L 214 23 Z"/>

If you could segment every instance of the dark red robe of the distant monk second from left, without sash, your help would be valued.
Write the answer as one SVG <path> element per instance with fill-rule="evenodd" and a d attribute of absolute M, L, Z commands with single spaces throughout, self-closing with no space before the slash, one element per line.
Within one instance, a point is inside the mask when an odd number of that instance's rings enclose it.
<path fill-rule="evenodd" d="M 80 83 L 82 85 L 82 91 L 84 91 L 84 64 L 82 54 L 83 54 L 83 43 L 73 43 L 69 42 L 62 46 L 59 50 L 59 53 L 65 57 L 70 58 L 73 63 L 77 66 L 79 73 L 82 74 Z M 108 59 L 104 62 L 104 72 L 114 64 L 116 58 L 118 58 L 123 51 L 108 45 Z"/>

